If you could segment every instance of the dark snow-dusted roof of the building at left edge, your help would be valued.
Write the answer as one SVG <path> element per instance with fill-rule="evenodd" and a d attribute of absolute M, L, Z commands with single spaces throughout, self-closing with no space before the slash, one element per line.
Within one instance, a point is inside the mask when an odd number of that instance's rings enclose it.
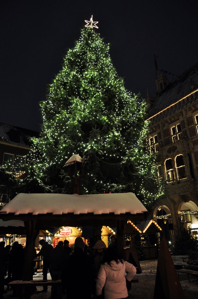
<path fill-rule="evenodd" d="M 28 137 L 38 137 L 39 132 L 32 131 L 9 125 L 6 123 L 0 123 L 0 142 L 8 144 L 16 144 L 21 146 L 31 146 Z"/>

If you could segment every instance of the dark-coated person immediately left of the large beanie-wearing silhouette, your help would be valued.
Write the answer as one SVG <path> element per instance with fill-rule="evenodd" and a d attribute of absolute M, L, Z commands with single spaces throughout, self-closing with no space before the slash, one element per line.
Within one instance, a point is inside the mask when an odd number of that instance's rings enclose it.
<path fill-rule="evenodd" d="M 65 250 L 63 246 L 63 241 L 59 241 L 58 245 L 49 254 L 50 274 L 52 280 L 62 279 L 64 260 Z M 52 285 L 51 298 L 62 298 L 62 285 Z"/>

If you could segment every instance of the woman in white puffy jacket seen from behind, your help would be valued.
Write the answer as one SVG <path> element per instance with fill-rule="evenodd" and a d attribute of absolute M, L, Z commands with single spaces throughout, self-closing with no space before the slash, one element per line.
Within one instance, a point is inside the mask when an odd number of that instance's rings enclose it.
<path fill-rule="evenodd" d="M 104 251 L 103 264 L 98 272 L 96 295 L 101 295 L 104 287 L 105 299 L 127 298 L 126 279 L 131 281 L 135 274 L 136 268 L 132 264 L 119 259 L 114 249 L 107 248 Z"/>

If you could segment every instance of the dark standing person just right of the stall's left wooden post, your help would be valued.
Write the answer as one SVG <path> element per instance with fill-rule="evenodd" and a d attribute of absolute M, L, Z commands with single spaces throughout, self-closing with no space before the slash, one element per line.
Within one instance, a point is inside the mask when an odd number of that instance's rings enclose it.
<path fill-rule="evenodd" d="M 49 269 L 49 255 L 53 250 L 53 246 L 48 244 L 44 239 L 41 239 L 39 241 L 39 244 L 42 246 L 42 248 L 36 256 L 43 256 L 43 280 L 47 280 L 47 272 Z M 43 286 L 42 292 L 47 292 L 47 286 Z"/>

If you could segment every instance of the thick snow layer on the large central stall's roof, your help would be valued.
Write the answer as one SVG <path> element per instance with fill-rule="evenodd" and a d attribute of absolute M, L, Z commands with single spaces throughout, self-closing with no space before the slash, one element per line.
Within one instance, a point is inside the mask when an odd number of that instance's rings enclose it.
<path fill-rule="evenodd" d="M 67 213 L 95 215 L 114 213 L 115 215 L 147 212 L 143 204 L 133 193 L 107 194 L 41 194 L 19 193 L 1 211 L 1 214 L 15 215 L 31 213 L 33 215 Z"/>

